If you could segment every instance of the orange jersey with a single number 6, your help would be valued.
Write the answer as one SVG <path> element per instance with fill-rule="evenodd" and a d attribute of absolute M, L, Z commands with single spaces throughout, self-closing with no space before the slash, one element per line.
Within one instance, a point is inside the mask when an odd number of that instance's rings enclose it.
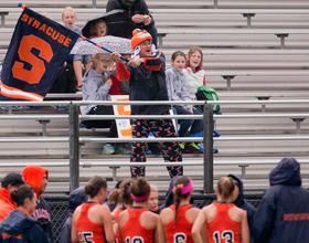
<path fill-rule="evenodd" d="M 174 221 L 171 220 L 171 222 L 163 226 L 168 243 L 194 243 L 191 235 L 191 229 L 193 224 L 190 223 L 185 218 L 187 210 L 192 207 L 192 204 L 180 205 L 178 208 L 175 225 Z M 174 205 L 170 205 L 170 208 L 173 211 L 175 210 Z"/>

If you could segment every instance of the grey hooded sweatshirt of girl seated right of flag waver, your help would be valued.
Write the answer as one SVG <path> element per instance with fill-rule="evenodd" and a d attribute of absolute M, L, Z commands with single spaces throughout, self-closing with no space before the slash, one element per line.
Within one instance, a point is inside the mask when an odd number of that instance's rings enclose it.
<path fill-rule="evenodd" d="M 173 65 L 166 68 L 166 82 L 170 101 L 191 101 L 188 78 L 183 71 L 179 72 Z M 192 108 L 193 105 L 182 105 Z"/>

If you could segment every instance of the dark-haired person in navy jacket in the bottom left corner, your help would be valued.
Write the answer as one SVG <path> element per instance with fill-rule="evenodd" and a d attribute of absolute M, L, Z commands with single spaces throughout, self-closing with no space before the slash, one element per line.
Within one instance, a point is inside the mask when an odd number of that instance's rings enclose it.
<path fill-rule="evenodd" d="M 40 226 L 38 220 L 30 214 L 36 207 L 36 194 L 29 186 L 21 186 L 11 192 L 12 200 L 18 204 L 0 223 L 1 243 L 49 243 L 46 233 Z"/>

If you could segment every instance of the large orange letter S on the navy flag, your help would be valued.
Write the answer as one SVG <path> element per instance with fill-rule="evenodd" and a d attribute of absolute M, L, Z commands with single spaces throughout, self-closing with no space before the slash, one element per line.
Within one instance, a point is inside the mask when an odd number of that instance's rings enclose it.
<path fill-rule="evenodd" d="M 32 65 L 31 71 L 24 70 L 24 64 L 15 62 L 12 68 L 13 77 L 24 81 L 29 84 L 40 83 L 45 73 L 45 65 L 41 59 L 31 53 L 31 49 L 40 51 L 39 56 L 50 62 L 54 53 L 51 45 L 35 35 L 23 36 L 19 46 L 19 56 L 22 61 Z"/>

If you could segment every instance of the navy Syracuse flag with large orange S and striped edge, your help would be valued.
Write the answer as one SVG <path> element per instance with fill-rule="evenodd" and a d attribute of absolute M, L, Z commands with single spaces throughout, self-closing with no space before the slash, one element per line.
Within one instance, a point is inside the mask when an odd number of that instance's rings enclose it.
<path fill-rule="evenodd" d="M 2 65 L 0 99 L 43 101 L 78 36 L 24 8 Z"/>

